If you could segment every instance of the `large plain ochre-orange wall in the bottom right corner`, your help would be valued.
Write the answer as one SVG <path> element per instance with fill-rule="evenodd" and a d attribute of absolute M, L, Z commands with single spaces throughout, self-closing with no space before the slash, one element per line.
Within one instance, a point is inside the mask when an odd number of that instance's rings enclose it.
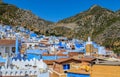
<path fill-rule="evenodd" d="M 93 65 L 90 77 L 120 77 L 120 66 Z"/>

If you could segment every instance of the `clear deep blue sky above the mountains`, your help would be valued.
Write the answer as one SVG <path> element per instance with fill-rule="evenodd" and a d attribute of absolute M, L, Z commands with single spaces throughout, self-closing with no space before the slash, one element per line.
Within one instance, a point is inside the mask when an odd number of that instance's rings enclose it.
<path fill-rule="evenodd" d="M 120 10 L 120 0 L 3 0 L 5 3 L 16 5 L 42 19 L 57 22 L 88 10 L 93 5 Z"/>

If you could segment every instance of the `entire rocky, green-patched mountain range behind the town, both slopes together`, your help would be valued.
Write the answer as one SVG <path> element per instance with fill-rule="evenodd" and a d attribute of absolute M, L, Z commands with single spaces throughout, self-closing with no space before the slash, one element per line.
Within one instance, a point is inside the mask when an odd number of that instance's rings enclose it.
<path fill-rule="evenodd" d="M 87 11 L 52 23 L 34 15 L 31 11 L 0 2 L 0 23 L 23 26 L 38 34 L 65 36 L 92 40 L 120 53 L 120 10 L 113 12 L 94 5 Z"/>

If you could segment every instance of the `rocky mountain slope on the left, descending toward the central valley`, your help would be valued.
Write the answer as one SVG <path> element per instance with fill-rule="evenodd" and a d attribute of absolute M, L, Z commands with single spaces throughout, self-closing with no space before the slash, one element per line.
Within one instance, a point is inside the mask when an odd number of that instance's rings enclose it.
<path fill-rule="evenodd" d="M 20 25 L 37 33 L 43 33 L 42 28 L 47 28 L 52 22 L 39 18 L 29 10 L 0 2 L 0 23 L 13 26 Z"/>

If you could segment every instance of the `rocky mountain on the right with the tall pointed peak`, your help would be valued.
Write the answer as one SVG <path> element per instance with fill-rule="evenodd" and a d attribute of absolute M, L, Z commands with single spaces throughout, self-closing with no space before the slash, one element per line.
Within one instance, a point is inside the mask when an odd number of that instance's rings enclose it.
<path fill-rule="evenodd" d="M 54 24 L 49 34 L 92 40 L 120 53 L 120 11 L 113 12 L 98 5 Z"/>

